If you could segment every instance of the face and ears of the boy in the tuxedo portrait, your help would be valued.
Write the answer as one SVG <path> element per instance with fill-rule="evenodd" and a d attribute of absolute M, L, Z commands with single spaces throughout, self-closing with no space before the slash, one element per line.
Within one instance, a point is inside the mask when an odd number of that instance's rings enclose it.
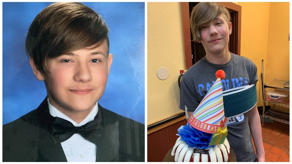
<path fill-rule="evenodd" d="M 34 74 L 45 81 L 49 101 L 59 111 L 87 113 L 105 90 L 112 56 L 107 57 L 107 44 L 103 43 L 95 49 L 79 49 L 48 59 L 50 73 Z"/>

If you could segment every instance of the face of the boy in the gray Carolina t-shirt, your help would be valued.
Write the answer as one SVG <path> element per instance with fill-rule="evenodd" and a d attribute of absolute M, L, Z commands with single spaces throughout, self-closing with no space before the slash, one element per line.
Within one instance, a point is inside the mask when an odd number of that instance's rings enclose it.
<path fill-rule="evenodd" d="M 229 35 L 231 34 L 231 22 L 226 21 L 223 14 L 218 16 L 216 20 L 205 23 L 200 26 L 201 43 L 206 53 L 221 53 L 228 50 Z"/>

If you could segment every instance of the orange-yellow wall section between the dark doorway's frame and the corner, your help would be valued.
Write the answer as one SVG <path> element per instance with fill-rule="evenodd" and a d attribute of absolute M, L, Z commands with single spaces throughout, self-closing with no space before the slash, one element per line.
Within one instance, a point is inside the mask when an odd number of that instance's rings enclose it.
<path fill-rule="evenodd" d="M 263 106 L 260 73 L 266 65 L 270 2 L 239 2 L 241 6 L 241 56 L 252 60 L 258 68 L 257 106 Z M 265 68 L 264 68 L 264 74 Z"/>

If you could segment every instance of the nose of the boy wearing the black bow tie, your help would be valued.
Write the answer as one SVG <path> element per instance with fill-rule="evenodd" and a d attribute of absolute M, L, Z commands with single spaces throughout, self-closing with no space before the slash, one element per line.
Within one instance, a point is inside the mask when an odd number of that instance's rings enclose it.
<path fill-rule="evenodd" d="M 88 82 L 92 80 L 91 71 L 87 64 L 78 64 L 75 70 L 74 80 L 78 82 Z"/>

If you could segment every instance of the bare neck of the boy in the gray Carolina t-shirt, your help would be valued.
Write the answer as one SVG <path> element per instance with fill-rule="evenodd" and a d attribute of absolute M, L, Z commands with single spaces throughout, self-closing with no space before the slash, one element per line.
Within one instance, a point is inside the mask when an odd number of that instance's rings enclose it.
<path fill-rule="evenodd" d="M 210 53 L 206 52 L 206 59 L 208 62 L 213 63 L 213 64 L 219 64 L 223 65 L 229 62 L 231 58 L 231 54 L 229 50 L 224 50 L 220 53 Z"/>

